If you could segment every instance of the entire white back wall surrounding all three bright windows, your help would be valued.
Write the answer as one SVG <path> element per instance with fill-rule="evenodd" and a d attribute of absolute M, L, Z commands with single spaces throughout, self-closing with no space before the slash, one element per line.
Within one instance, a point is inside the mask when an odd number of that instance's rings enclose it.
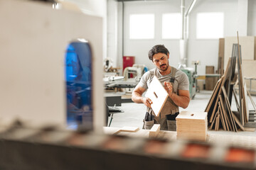
<path fill-rule="evenodd" d="M 245 0 L 247 1 L 247 0 Z M 241 2 L 240 2 L 241 3 Z M 186 10 L 191 0 L 185 1 Z M 181 1 L 130 1 L 124 2 L 124 55 L 135 56 L 137 64 L 146 64 L 149 69 L 154 68 L 148 59 L 147 53 L 156 44 L 164 44 L 170 51 L 170 64 L 178 67 L 179 40 L 161 39 L 161 15 L 162 13 L 177 13 L 181 11 Z M 248 21 L 256 18 L 256 2 L 248 1 Z M 218 67 L 218 40 L 196 39 L 196 14 L 198 12 L 224 12 L 224 36 L 236 36 L 239 21 L 238 1 L 234 0 L 198 0 L 189 17 L 188 37 L 188 67 L 194 67 L 191 62 L 200 60 L 198 74 L 204 74 L 206 65 Z M 154 40 L 129 40 L 129 15 L 132 13 L 155 13 L 155 38 Z M 250 16 L 252 14 L 252 16 Z M 244 13 L 243 13 L 244 15 Z M 244 15 L 245 16 L 245 15 Z M 240 18 L 240 21 L 242 18 Z M 118 23 L 118 27 L 122 23 Z M 255 35 L 256 22 L 248 24 L 248 34 Z M 118 37 L 119 39 L 119 37 Z M 118 56 L 118 64 L 122 65 L 122 56 Z"/>

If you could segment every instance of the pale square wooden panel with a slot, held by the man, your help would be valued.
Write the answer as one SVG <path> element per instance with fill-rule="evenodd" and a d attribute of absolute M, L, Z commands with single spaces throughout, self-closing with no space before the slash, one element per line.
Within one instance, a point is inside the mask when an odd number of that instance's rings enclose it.
<path fill-rule="evenodd" d="M 164 89 L 159 79 L 155 76 L 149 85 L 149 89 L 146 91 L 146 97 L 150 98 L 153 103 L 151 103 L 151 108 L 153 109 L 156 116 L 159 116 L 161 109 L 164 107 L 164 103 L 168 98 L 169 94 Z"/>

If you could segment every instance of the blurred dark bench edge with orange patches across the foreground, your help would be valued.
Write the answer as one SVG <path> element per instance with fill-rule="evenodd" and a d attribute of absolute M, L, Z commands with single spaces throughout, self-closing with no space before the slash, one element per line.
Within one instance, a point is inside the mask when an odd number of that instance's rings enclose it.
<path fill-rule="evenodd" d="M 249 170 L 256 167 L 255 147 L 231 147 L 215 142 L 221 135 L 210 134 L 208 142 L 191 142 L 175 140 L 176 132 L 169 131 L 160 131 L 156 136 L 160 140 L 149 138 L 149 130 L 117 135 L 110 134 L 119 128 L 103 130 L 106 135 L 22 125 L 3 128 L 0 169 Z M 225 137 L 248 145 L 246 137 Z"/>

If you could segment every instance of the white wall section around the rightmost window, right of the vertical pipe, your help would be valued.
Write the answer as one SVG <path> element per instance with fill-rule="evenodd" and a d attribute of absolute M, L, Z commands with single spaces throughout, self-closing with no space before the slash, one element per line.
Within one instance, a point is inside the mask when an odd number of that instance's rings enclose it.
<path fill-rule="evenodd" d="M 206 65 L 218 68 L 218 40 L 196 39 L 196 15 L 201 12 L 224 12 L 224 37 L 236 36 L 238 1 L 215 0 L 198 1 L 189 18 L 188 67 L 194 60 L 201 61 L 198 74 L 206 73 Z"/>

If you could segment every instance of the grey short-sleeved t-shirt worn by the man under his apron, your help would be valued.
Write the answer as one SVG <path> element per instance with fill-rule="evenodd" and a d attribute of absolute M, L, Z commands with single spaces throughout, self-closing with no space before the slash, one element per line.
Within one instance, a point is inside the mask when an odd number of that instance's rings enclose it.
<path fill-rule="evenodd" d="M 161 84 L 164 86 L 164 81 L 170 81 L 171 73 L 167 75 L 161 75 L 159 70 L 154 68 L 143 74 L 142 79 L 139 81 L 139 86 L 142 86 L 144 89 L 149 88 L 149 84 L 151 83 L 154 74 L 159 79 Z M 189 81 L 187 75 L 181 70 L 177 69 L 174 80 L 174 93 L 177 94 L 177 90 L 189 90 Z"/>

